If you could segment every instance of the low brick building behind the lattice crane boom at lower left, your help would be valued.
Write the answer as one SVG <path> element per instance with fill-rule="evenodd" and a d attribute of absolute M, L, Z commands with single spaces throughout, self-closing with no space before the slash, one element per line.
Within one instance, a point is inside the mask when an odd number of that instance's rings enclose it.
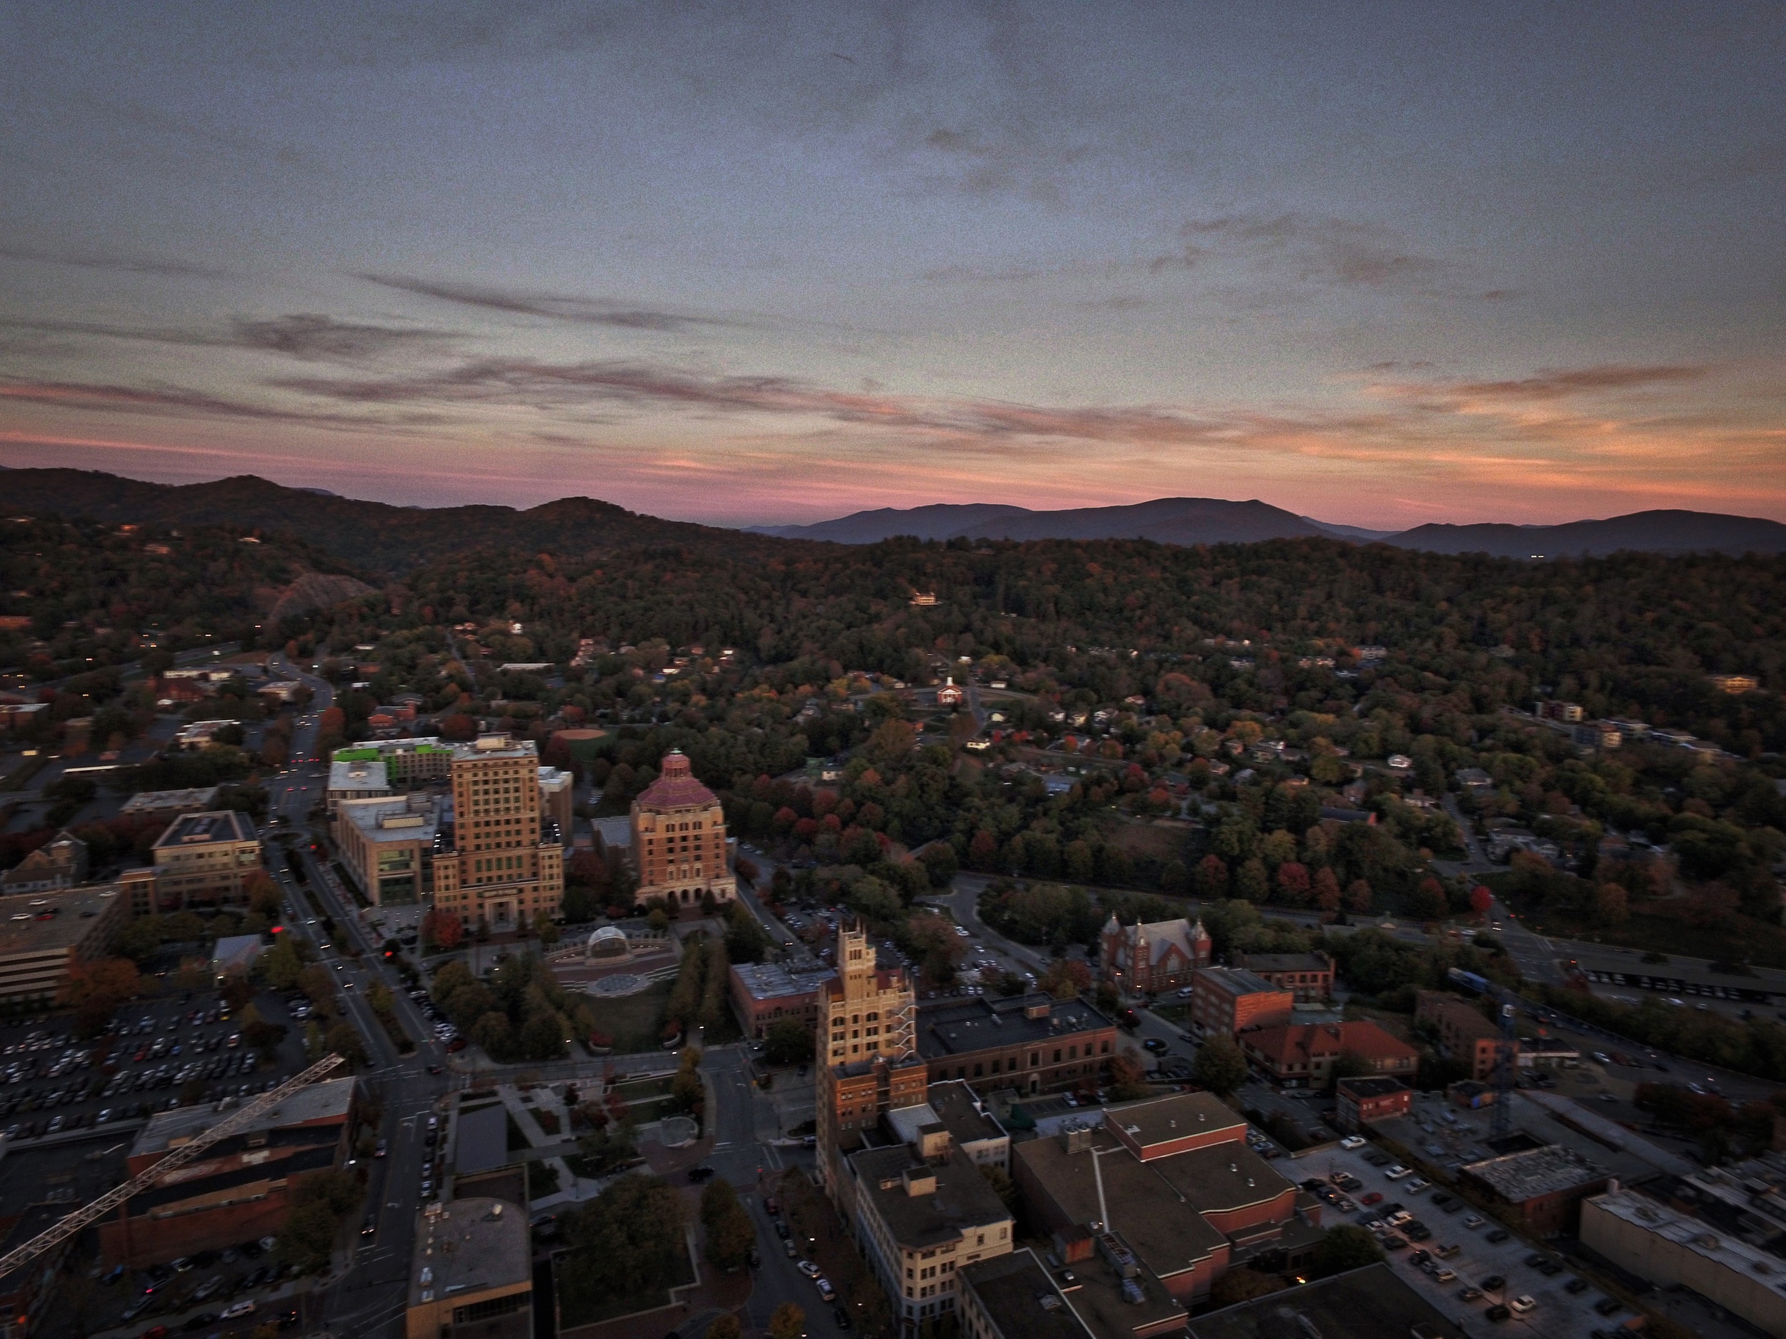
<path fill-rule="evenodd" d="M 152 1184 L 100 1219 L 102 1259 L 141 1269 L 279 1235 L 304 1173 L 339 1168 L 346 1159 L 354 1096 L 354 1078 L 311 1084 L 250 1128 L 218 1141 L 166 1182 Z M 130 1148 L 129 1175 L 148 1171 L 216 1121 L 209 1105 L 152 1116 Z"/>

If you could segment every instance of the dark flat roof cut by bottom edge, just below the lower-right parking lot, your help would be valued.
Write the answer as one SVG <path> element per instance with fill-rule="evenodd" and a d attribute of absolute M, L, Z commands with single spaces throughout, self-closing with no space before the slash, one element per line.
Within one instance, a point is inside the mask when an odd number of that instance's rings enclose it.
<path fill-rule="evenodd" d="M 1191 1339 L 1465 1339 L 1465 1330 L 1397 1278 L 1388 1264 L 1366 1264 L 1213 1310 L 1193 1319 L 1189 1332 Z"/>

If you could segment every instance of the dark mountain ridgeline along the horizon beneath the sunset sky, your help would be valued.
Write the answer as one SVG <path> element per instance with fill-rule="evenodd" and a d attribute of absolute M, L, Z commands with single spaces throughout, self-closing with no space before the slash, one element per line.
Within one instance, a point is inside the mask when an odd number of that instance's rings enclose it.
<path fill-rule="evenodd" d="M 1366 530 L 1297 516 L 1252 500 L 1156 498 L 1129 507 L 1031 511 L 1002 503 L 936 503 L 859 511 L 818 525 L 723 530 L 641 516 L 595 498 L 539 507 L 393 507 L 325 489 L 284 487 L 255 475 L 205 484 L 146 484 L 91 470 L 5 470 L 5 505 L 20 512 L 86 516 L 152 525 L 241 525 L 288 532 L 368 571 L 402 573 L 472 548 L 588 553 L 636 545 L 761 545 L 780 539 L 873 545 L 918 539 L 1152 539 L 1163 545 L 1245 545 L 1261 539 L 1345 539 L 1431 553 L 1579 557 L 1620 550 L 1648 553 L 1781 553 L 1786 525 L 1698 511 L 1641 511 L 1568 525 L 1420 525 Z"/>

